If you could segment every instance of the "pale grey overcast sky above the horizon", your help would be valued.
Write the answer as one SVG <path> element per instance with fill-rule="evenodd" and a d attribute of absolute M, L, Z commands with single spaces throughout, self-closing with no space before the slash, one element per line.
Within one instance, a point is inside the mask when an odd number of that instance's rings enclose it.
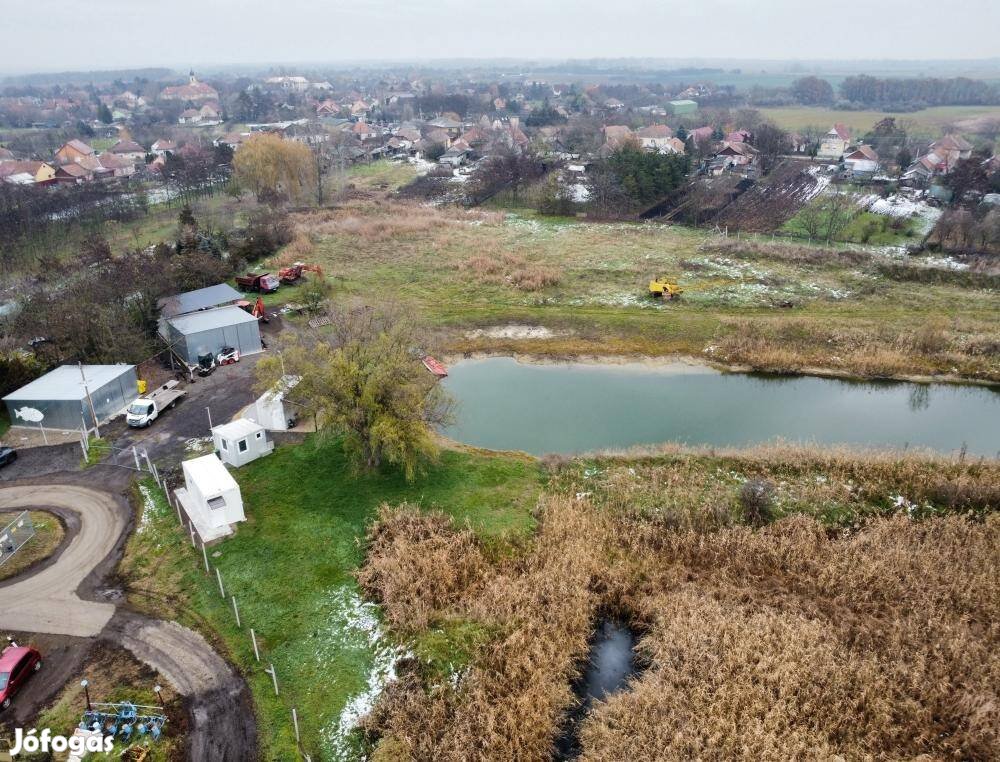
<path fill-rule="evenodd" d="M 1000 56 L 1000 0 L 0 0 L 0 28 L 5 73 L 457 57 Z"/>

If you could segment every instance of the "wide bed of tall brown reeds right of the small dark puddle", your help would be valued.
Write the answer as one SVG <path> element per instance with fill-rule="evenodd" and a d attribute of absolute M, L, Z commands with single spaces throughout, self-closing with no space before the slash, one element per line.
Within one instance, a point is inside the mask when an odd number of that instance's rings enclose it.
<path fill-rule="evenodd" d="M 652 666 L 585 722 L 583 759 L 1000 753 L 1000 517 L 846 538 L 798 517 L 627 546 Z"/>

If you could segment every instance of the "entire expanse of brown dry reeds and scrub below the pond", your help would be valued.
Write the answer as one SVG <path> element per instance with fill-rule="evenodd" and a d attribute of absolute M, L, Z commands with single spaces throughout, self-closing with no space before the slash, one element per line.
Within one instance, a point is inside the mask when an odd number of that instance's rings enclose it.
<path fill-rule="evenodd" d="M 485 635 L 453 674 L 406 665 L 368 723 L 377 758 L 549 758 L 607 611 L 644 634 L 648 668 L 584 721 L 583 759 L 1000 754 L 996 461 L 761 448 L 551 466 L 567 496 L 519 551 L 383 508 L 361 582 L 393 630 Z M 752 529 L 740 485 L 757 478 L 783 518 Z"/>

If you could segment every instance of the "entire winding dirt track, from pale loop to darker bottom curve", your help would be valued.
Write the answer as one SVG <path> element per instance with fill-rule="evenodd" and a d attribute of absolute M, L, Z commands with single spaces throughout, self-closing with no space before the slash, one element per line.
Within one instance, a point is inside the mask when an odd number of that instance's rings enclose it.
<path fill-rule="evenodd" d="M 79 476 L 77 476 L 79 478 Z M 188 759 L 257 759 L 257 731 L 246 682 L 198 633 L 102 601 L 96 577 L 121 554 L 130 520 L 127 503 L 78 484 L 0 488 L 0 509 L 47 508 L 73 534 L 55 557 L 0 584 L 0 623 L 8 630 L 103 638 L 156 669 L 188 701 Z M 30 686 L 29 686 L 30 687 Z M 57 689 L 54 686 L 53 689 Z"/>

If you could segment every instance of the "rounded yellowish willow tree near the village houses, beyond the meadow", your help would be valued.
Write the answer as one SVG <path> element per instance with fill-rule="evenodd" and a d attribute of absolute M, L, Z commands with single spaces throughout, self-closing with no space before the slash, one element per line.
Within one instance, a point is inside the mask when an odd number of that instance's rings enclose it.
<path fill-rule="evenodd" d="M 233 173 L 240 187 L 259 201 L 305 201 L 316 188 L 316 162 L 302 143 L 273 133 L 251 136 L 233 156 Z"/>

